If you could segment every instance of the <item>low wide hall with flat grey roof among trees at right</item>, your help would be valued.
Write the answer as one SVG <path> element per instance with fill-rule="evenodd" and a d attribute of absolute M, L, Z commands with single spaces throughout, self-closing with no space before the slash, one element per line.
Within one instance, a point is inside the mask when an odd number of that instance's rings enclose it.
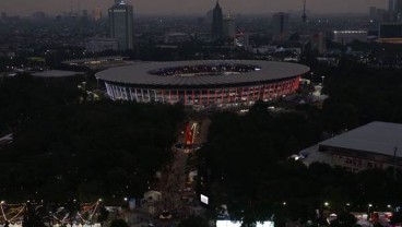
<path fill-rule="evenodd" d="M 402 124 L 375 121 L 300 152 L 304 163 L 327 163 L 351 171 L 402 167 Z"/>

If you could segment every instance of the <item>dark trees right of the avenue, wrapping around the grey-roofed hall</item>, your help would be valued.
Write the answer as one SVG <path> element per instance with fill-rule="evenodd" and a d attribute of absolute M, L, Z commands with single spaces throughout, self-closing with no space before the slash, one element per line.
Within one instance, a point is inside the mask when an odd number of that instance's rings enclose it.
<path fill-rule="evenodd" d="M 401 71 L 368 69 L 348 59 L 339 68 L 314 70 L 316 82 L 326 75 L 329 98 L 321 107 L 299 105 L 294 111 L 270 115 L 257 103 L 243 117 L 212 117 L 200 154 L 201 176 L 208 181 L 200 190 L 212 198 L 212 206 L 228 204 L 229 213 L 246 223 L 273 218 L 282 226 L 286 219 L 319 223 L 316 210 L 367 212 L 374 204 L 374 211 L 390 211 L 388 204 L 392 210 L 402 204 L 401 172 L 397 178 L 392 170 L 352 174 L 287 159 L 331 134 L 371 121 L 402 123 Z"/>

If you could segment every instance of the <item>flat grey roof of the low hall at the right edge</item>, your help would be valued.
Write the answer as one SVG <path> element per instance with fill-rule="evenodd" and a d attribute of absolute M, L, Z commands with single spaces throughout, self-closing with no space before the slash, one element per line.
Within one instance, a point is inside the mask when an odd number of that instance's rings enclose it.
<path fill-rule="evenodd" d="M 402 157 L 402 124 L 374 121 L 320 143 L 324 146 Z"/>

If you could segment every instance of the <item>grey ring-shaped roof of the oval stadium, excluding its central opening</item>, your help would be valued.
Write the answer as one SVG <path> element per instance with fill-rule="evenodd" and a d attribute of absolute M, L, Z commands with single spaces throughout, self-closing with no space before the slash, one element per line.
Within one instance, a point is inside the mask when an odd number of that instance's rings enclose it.
<path fill-rule="evenodd" d="M 194 76 L 161 76 L 149 72 L 157 69 L 175 67 L 194 67 L 213 64 L 246 64 L 255 65 L 258 70 L 240 74 L 223 75 L 194 75 Z M 199 60 L 199 61 L 170 61 L 146 62 L 130 67 L 111 68 L 98 72 L 97 79 L 125 84 L 162 85 L 162 86 L 210 86 L 225 84 L 259 83 L 271 80 L 281 80 L 302 75 L 310 69 L 303 64 L 274 61 L 250 60 Z"/>

